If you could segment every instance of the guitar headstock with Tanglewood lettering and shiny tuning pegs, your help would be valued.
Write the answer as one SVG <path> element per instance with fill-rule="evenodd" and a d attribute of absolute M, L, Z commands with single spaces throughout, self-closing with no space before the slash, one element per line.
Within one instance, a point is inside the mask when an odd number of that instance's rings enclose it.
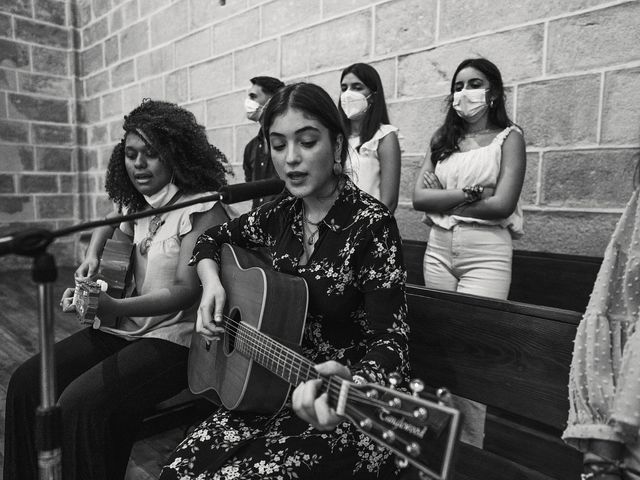
<path fill-rule="evenodd" d="M 344 411 L 338 413 L 398 455 L 401 466 L 408 463 L 434 479 L 449 478 L 461 422 L 458 410 L 443 398 L 422 398 L 424 383 L 417 379 L 411 381 L 412 394 L 393 388 L 391 379 L 392 388 L 347 383 Z"/>

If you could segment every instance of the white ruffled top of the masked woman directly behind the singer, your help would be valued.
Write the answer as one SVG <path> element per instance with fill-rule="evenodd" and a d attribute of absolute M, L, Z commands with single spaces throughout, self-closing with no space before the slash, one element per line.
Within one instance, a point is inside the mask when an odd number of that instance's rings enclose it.
<path fill-rule="evenodd" d="M 360 143 L 358 135 L 349 137 L 349 155 L 346 170 L 351 180 L 360 190 L 380 200 L 380 159 L 378 158 L 378 144 L 380 140 L 391 132 L 397 132 L 393 125 L 380 125 L 371 139 L 360 146 L 360 153 L 356 147 Z"/>

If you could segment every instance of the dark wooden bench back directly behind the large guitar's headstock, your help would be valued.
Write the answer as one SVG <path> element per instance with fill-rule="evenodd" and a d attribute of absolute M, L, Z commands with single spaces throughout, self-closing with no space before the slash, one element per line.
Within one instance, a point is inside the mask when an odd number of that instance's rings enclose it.
<path fill-rule="evenodd" d="M 460 443 L 453 478 L 579 478 L 582 457 L 560 434 L 581 314 L 413 285 L 407 295 L 413 376 L 487 405 L 483 448 Z"/>

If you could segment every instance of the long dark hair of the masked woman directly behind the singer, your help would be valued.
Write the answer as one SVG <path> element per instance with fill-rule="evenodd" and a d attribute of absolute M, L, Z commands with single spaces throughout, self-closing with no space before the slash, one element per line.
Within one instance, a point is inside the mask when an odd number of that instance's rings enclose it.
<path fill-rule="evenodd" d="M 384 99 L 384 88 L 382 87 L 382 80 L 380 75 L 371 65 L 367 63 L 354 63 L 349 65 L 342 71 L 340 75 L 340 83 L 344 77 L 353 73 L 360 79 L 366 87 L 371 90 L 372 99 L 369 100 L 369 108 L 362 119 L 362 126 L 360 128 L 360 142 L 356 150 L 360 151 L 360 145 L 371 140 L 375 133 L 382 124 L 388 124 L 389 113 L 387 112 L 387 103 Z M 340 111 L 340 117 L 344 122 L 347 132 L 351 135 L 351 121 L 342 110 L 342 101 L 338 101 L 338 110 Z"/>

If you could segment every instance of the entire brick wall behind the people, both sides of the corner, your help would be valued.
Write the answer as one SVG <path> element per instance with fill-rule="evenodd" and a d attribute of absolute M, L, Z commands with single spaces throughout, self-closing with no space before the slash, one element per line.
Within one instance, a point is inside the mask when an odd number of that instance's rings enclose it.
<path fill-rule="evenodd" d="M 450 75 L 477 55 L 500 67 L 525 131 L 527 233 L 516 248 L 601 255 L 631 193 L 638 0 L 68 1 L 0 6 L 0 148 L 11 159 L 0 174 L 0 222 L 102 215 L 122 116 L 143 97 L 191 109 L 240 181 L 242 150 L 256 133 L 242 107 L 250 77 L 311 81 L 337 98 L 341 69 L 365 61 L 380 72 L 401 129 L 396 217 L 406 238 L 425 239 L 411 208 L 414 176 L 442 121 Z M 37 63 L 52 40 L 49 56 L 75 47 L 77 61 Z"/>

